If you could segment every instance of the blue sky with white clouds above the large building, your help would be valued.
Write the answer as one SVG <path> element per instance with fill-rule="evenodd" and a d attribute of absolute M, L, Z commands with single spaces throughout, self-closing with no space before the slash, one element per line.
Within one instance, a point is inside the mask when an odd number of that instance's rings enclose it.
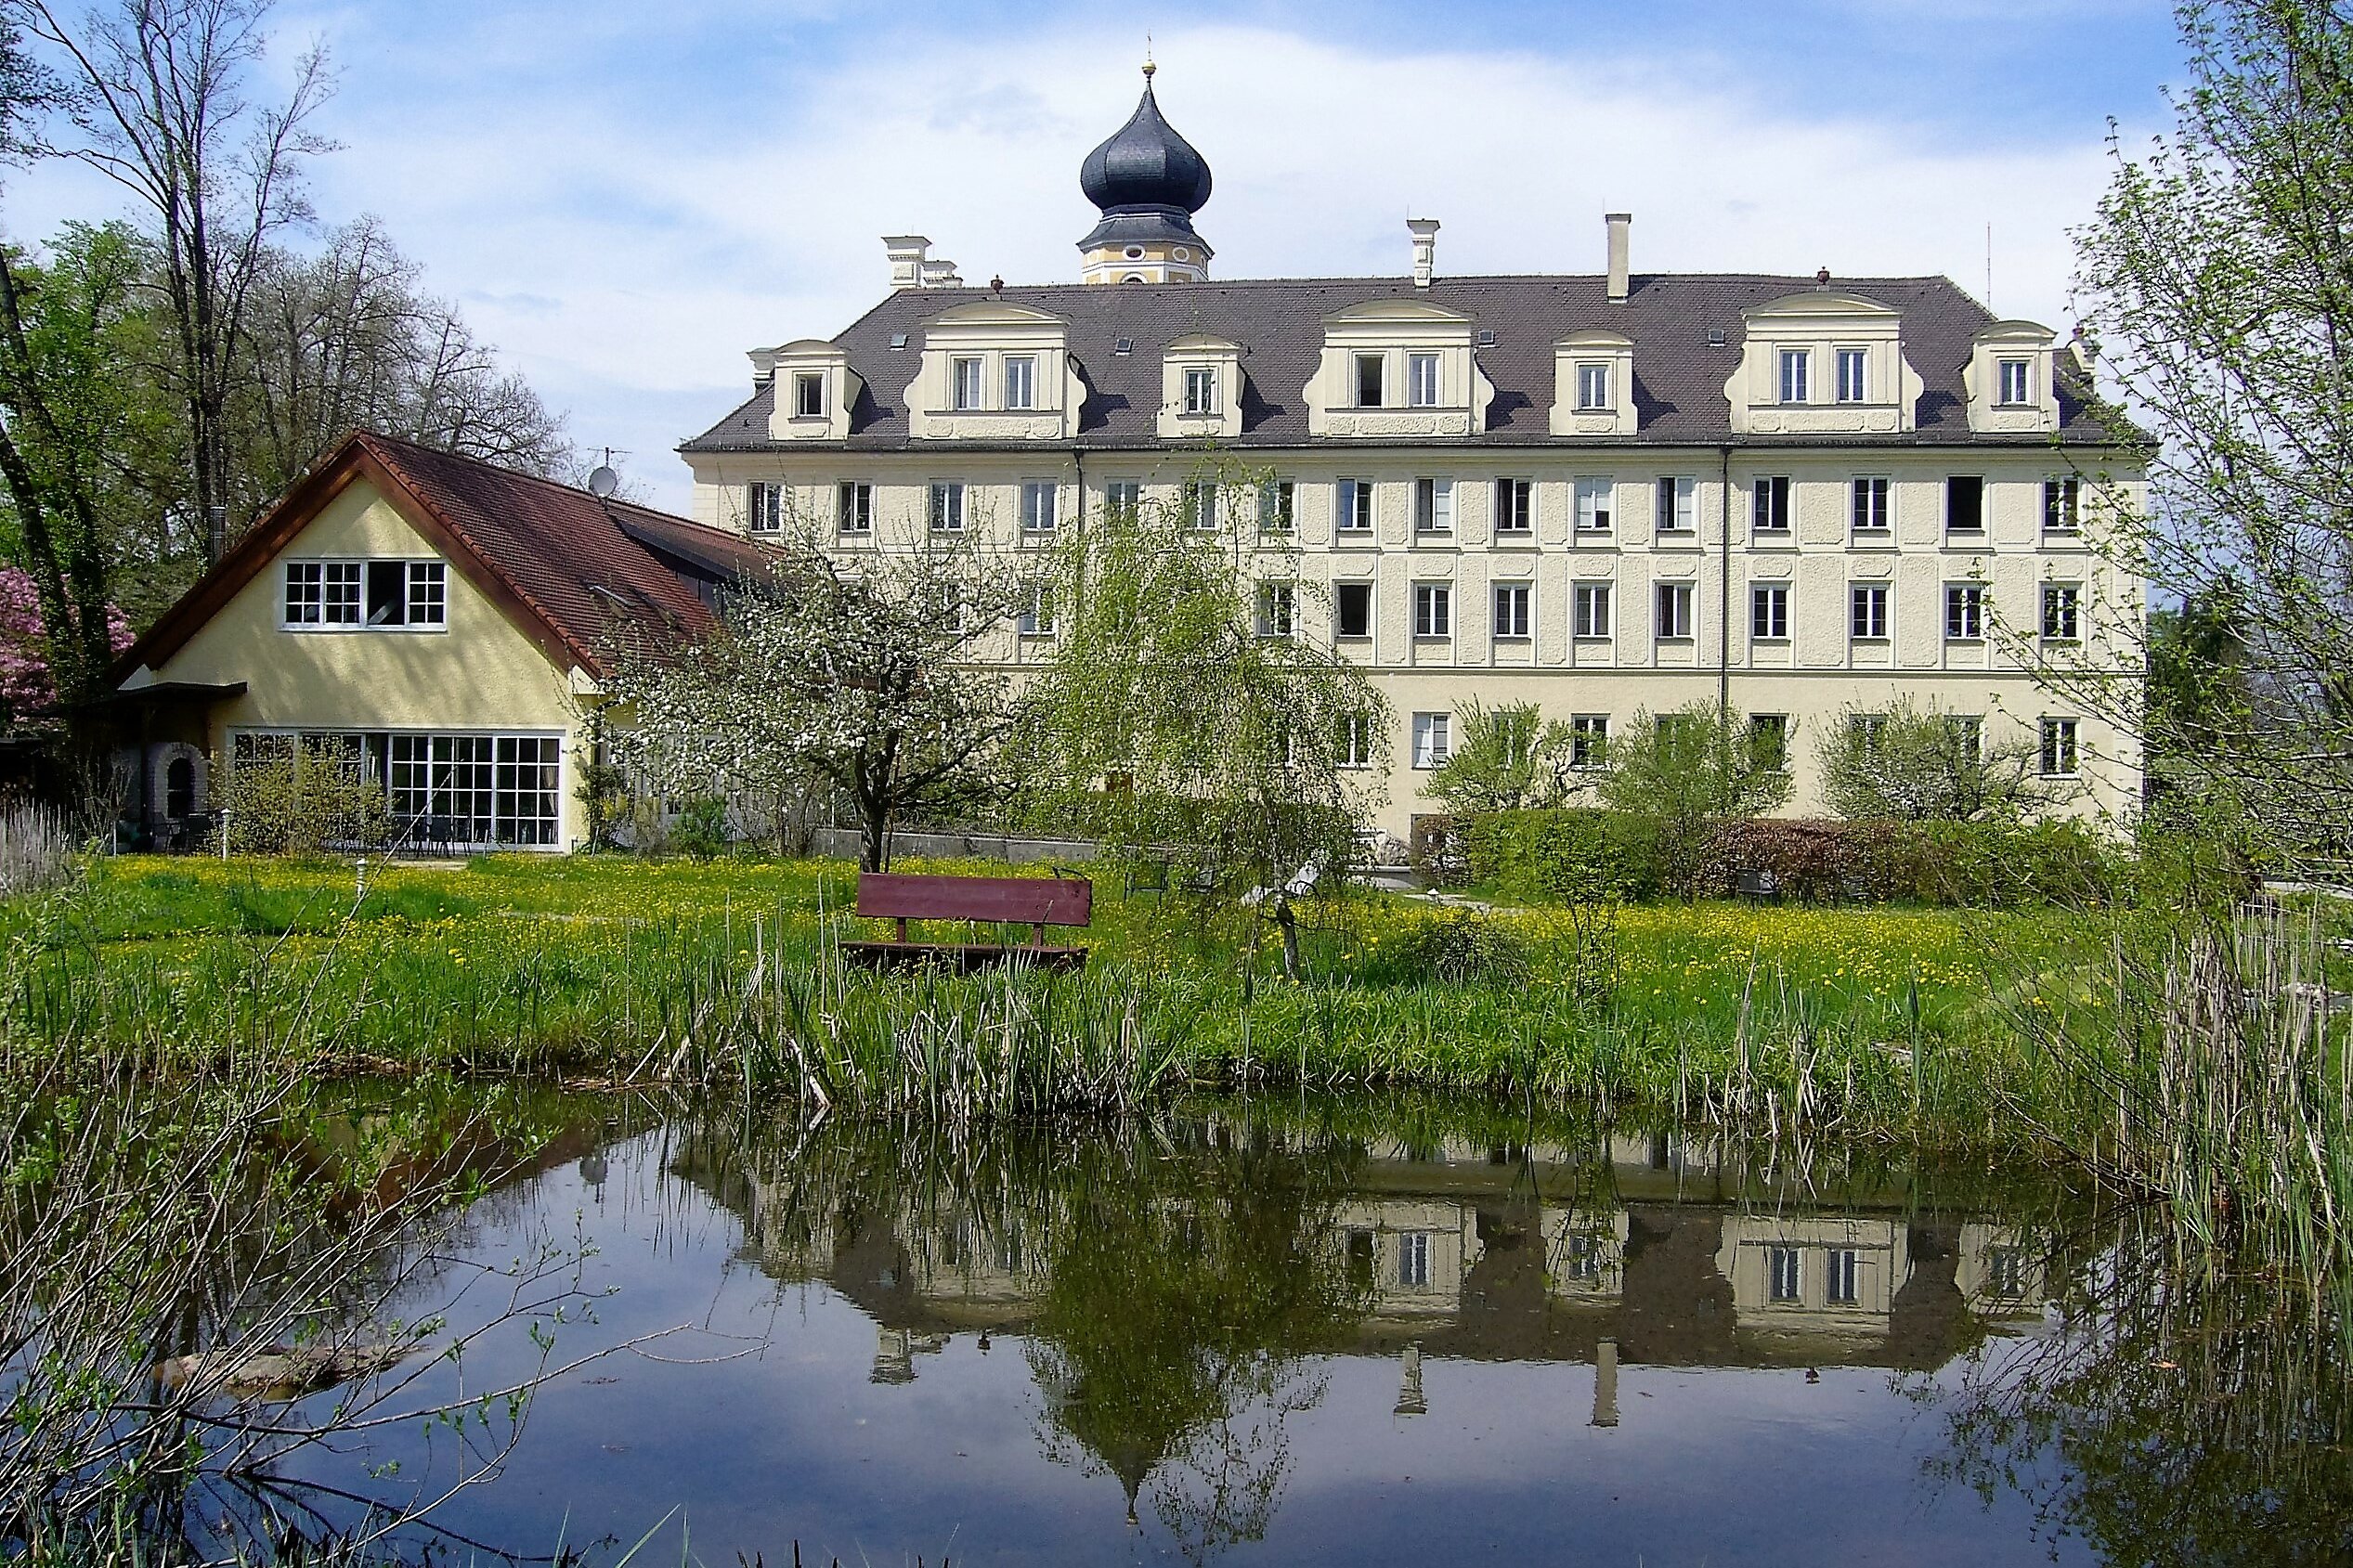
<path fill-rule="evenodd" d="M 831 336 L 882 233 L 967 280 L 1073 280 L 1078 160 L 1160 103 L 1209 158 L 1217 273 L 1948 273 L 2064 327 L 2066 226 L 2179 80 L 2153 0 L 889 7 L 282 0 L 271 71 L 341 68 L 322 221 L 386 219 L 584 447 L 682 505 L 675 442 L 734 407 L 744 350 Z M 0 219 L 111 207 L 64 172 Z"/>

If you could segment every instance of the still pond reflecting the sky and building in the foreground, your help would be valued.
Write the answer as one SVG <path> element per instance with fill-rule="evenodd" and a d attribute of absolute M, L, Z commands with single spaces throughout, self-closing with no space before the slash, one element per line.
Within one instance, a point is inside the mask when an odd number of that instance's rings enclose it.
<path fill-rule="evenodd" d="M 459 1239 L 560 1260 L 588 1309 L 419 1387 L 624 1349 L 513 1434 L 395 1425 L 282 1481 L 348 1521 L 475 1479 L 409 1528 L 471 1559 L 654 1530 L 640 1561 L 2320 1561 L 2337 1406 L 2294 1392 L 2325 1462 L 2282 1490 L 2278 1425 L 2212 1403 L 2278 1403 L 2245 1385 L 2264 1352 L 2153 1347 L 2146 1291 L 2087 1295 L 2132 1234 L 1984 1166 L 1494 1107 L 960 1135 L 600 1110 Z M 501 1314 L 459 1279 L 402 1307 Z M 2169 1335 L 2188 1293 L 2160 1295 Z"/>

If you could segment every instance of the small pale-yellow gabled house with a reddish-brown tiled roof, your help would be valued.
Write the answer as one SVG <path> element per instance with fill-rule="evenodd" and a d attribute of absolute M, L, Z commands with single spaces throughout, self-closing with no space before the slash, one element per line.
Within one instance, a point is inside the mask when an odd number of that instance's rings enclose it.
<path fill-rule="evenodd" d="M 572 849 L 607 661 L 699 637 L 762 559 L 722 529 L 353 435 L 122 656 L 129 811 L 172 842 L 216 762 L 304 745 L 381 780 L 405 842 Z"/>

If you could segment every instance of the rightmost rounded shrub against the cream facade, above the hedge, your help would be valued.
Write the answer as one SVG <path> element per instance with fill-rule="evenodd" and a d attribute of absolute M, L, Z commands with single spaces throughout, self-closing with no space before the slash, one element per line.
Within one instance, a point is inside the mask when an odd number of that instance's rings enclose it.
<path fill-rule="evenodd" d="M 1857 820 L 2014 820 L 2049 799 L 2033 738 L 1986 736 L 1984 719 L 1911 698 L 1847 708 L 1819 741 L 1821 792 Z"/>

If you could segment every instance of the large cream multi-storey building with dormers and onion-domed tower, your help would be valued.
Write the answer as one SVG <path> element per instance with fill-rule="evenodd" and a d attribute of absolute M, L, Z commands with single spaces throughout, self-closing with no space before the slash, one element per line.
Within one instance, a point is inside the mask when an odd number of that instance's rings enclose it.
<path fill-rule="evenodd" d="M 873 310 L 753 353 L 682 447 L 696 520 L 861 555 L 1217 508 L 1266 630 L 1384 686 L 1398 832 L 1468 701 L 1593 738 L 1720 703 L 1788 731 L 1817 813 L 1826 726 L 1911 698 L 2033 741 L 2066 809 L 2137 804 L 2137 738 L 2038 679 L 2122 675 L 2141 616 L 2099 550 L 2139 477 L 2049 327 L 1946 277 L 1638 273 L 1626 214 L 1602 273 L 1449 277 L 1414 221 L 1407 275 L 1219 282 L 1151 80 L 1080 183 L 1082 282 L 969 287 L 894 235 Z M 1024 623 L 1005 658 L 1049 651 Z"/>

